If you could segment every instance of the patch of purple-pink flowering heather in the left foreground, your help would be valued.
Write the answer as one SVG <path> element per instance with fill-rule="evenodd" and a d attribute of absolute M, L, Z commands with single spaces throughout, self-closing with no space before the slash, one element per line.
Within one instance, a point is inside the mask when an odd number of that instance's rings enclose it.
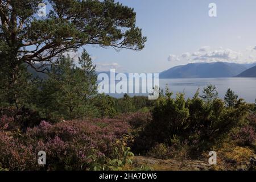
<path fill-rule="evenodd" d="M 54 125 L 42 121 L 25 133 L 16 133 L 15 137 L 5 133 L 12 121 L 13 118 L 2 115 L 0 123 L 0 161 L 3 167 L 11 170 L 115 169 L 125 166 L 126 160 L 133 155 L 124 139 L 129 125 L 118 119 Z M 39 151 L 47 154 L 46 166 L 37 163 Z"/>

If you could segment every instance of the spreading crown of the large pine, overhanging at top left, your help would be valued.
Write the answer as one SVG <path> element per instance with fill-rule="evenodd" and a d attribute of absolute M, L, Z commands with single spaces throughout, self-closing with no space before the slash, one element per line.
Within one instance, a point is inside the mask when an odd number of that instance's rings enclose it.
<path fill-rule="evenodd" d="M 92 44 L 141 50 L 146 42 L 133 9 L 114 0 L 0 0 L 0 54 L 13 64 L 51 63 L 62 53 Z M 3 60 L 1 59 L 1 62 Z M 43 68 L 43 67 L 42 67 Z M 42 71 L 39 70 L 38 71 Z"/>

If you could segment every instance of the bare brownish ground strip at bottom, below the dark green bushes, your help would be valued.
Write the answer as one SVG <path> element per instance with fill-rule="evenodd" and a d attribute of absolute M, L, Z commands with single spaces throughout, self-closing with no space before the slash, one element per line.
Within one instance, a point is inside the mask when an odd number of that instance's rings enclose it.
<path fill-rule="evenodd" d="M 146 156 L 135 156 L 134 164 L 148 166 L 156 171 L 205 171 L 210 169 L 208 162 L 203 160 L 162 160 Z"/>

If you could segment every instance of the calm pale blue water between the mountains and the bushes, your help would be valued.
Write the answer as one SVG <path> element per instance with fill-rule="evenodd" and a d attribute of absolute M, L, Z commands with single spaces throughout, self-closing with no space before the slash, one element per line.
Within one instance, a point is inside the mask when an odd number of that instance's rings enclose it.
<path fill-rule="evenodd" d="M 209 84 L 216 85 L 218 96 L 224 98 L 226 90 L 232 89 L 240 98 L 244 98 L 247 102 L 254 102 L 256 98 L 256 78 L 176 78 L 176 79 L 160 79 L 160 88 L 168 88 L 171 92 L 184 92 L 186 98 L 192 98 L 197 88 L 200 93 L 203 88 Z M 123 94 L 110 94 L 114 97 L 122 97 Z M 145 95 L 145 94 L 129 94 Z"/>

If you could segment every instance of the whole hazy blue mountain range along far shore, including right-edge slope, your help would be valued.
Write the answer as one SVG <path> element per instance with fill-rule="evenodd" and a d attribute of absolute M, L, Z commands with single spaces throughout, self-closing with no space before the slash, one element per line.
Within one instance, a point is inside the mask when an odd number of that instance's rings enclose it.
<path fill-rule="evenodd" d="M 39 67 L 39 64 L 35 64 L 35 67 Z M 236 63 L 191 63 L 187 65 L 179 65 L 173 67 L 159 74 L 159 78 L 218 78 L 218 77 L 256 77 L 255 68 L 256 63 L 252 64 L 236 64 Z M 254 69 L 250 69 L 254 68 Z M 36 72 L 35 69 L 30 66 L 27 67 L 28 72 L 32 73 L 34 77 L 47 78 L 45 73 Z M 254 71 L 253 71 L 254 70 Z M 244 73 L 243 73 L 244 72 Z M 110 72 L 96 72 L 106 73 L 110 78 Z M 118 73 L 115 73 L 115 76 Z M 125 73 L 128 77 L 129 73 Z"/>

